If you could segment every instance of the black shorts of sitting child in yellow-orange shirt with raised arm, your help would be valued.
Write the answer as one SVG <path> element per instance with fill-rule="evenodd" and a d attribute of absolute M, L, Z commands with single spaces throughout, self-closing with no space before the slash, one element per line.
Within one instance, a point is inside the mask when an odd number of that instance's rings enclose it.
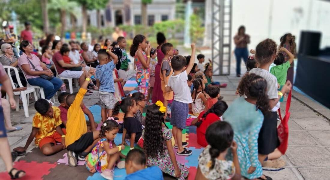
<path fill-rule="evenodd" d="M 82 136 L 76 140 L 74 143 L 70 144 L 67 149 L 76 153 L 80 153 L 87 149 L 88 146 L 93 144 L 93 132 L 87 132 L 82 134 Z"/>

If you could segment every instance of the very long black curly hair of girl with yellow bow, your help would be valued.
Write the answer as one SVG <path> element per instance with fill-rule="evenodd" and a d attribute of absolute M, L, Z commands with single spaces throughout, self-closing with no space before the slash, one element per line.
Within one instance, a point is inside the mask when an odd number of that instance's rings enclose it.
<path fill-rule="evenodd" d="M 164 113 L 159 111 L 159 106 L 153 104 L 148 107 L 146 114 L 146 126 L 144 132 L 143 150 L 148 157 L 157 158 L 164 154 L 165 139 L 162 133 Z M 166 125 L 165 125 L 166 126 Z M 166 128 L 168 128 L 166 126 Z"/>

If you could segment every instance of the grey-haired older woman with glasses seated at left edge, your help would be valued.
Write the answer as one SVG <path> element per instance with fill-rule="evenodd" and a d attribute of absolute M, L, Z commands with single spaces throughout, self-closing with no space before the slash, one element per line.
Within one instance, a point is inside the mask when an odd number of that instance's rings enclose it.
<path fill-rule="evenodd" d="M 22 70 L 19 69 L 18 66 L 17 66 L 18 65 L 18 59 L 14 55 L 12 45 L 7 44 L 7 43 L 1 45 L 1 51 L 4 53 L 4 55 L 2 55 L 0 57 L 1 64 L 4 65 L 4 66 L 16 67 L 17 70 L 18 70 L 19 79 L 20 79 L 22 85 L 24 87 L 26 87 L 26 80 L 25 80 L 25 77 L 24 77 L 24 74 L 23 74 Z M 10 75 L 12 76 L 14 83 L 18 83 L 17 79 L 16 79 L 15 71 L 11 71 Z"/>

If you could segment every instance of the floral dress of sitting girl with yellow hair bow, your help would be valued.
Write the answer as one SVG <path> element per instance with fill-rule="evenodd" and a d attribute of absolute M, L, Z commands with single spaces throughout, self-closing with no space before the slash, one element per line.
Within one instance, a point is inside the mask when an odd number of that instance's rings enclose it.
<path fill-rule="evenodd" d="M 172 140 L 172 132 L 171 129 L 167 129 L 166 127 L 162 127 L 162 133 L 165 141 Z M 142 132 L 144 134 L 144 130 Z M 147 165 L 148 166 L 158 166 L 164 173 L 169 174 L 171 176 L 175 175 L 174 165 L 172 163 L 171 157 L 168 153 L 166 143 L 163 143 L 164 153 L 162 156 L 157 155 L 157 158 L 148 157 Z M 178 162 L 179 170 L 181 172 L 181 176 L 178 179 L 184 180 L 188 174 L 189 170 L 186 166 Z"/>

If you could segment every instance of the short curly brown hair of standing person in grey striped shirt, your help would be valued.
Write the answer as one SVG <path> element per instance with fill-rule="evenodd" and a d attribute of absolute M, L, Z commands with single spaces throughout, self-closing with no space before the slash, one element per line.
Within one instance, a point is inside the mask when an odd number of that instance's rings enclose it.
<path fill-rule="evenodd" d="M 259 65 L 271 62 L 272 56 L 277 52 L 277 44 L 272 39 L 261 41 L 255 48 L 255 59 Z"/>

